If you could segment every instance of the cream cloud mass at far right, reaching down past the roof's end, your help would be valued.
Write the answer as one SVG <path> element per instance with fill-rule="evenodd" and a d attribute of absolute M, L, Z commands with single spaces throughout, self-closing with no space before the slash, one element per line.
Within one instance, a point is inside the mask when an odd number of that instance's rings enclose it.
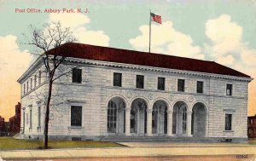
<path fill-rule="evenodd" d="M 205 43 L 203 50 L 212 60 L 256 78 L 256 49 L 242 42 L 242 32 L 242 27 L 229 14 L 207 20 L 206 36 L 211 42 Z M 256 112 L 255 96 L 256 81 L 253 80 L 249 83 L 249 114 Z"/>

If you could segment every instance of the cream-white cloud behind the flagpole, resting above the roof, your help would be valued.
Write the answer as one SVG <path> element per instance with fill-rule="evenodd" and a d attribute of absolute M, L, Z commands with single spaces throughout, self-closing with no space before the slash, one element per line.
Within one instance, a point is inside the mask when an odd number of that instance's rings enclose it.
<path fill-rule="evenodd" d="M 134 49 L 148 51 L 149 27 L 140 26 L 139 30 L 141 34 L 131 38 L 129 43 Z M 201 48 L 193 45 L 193 39 L 189 35 L 177 32 L 172 26 L 172 21 L 152 25 L 151 33 L 151 51 L 154 53 L 204 59 Z"/>

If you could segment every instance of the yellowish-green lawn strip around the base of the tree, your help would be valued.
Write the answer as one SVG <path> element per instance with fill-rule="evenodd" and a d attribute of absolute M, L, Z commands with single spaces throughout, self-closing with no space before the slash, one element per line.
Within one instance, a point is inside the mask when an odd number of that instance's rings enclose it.
<path fill-rule="evenodd" d="M 1 150 L 41 149 L 42 141 L 19 140 L 13 137 L 0 137 Z M 49 149 L 78 147 L 122 147 L 119 144 L 106 141 L 49 141 Z"/>

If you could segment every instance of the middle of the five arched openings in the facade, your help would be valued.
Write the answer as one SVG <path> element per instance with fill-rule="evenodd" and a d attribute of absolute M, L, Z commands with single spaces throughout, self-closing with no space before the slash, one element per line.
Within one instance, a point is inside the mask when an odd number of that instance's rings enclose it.
<path fill-rule="evenodd" d="M 155 101 L 152 111 L 152 134 L 167 133 L 167 106 L 165 101 Z"/>

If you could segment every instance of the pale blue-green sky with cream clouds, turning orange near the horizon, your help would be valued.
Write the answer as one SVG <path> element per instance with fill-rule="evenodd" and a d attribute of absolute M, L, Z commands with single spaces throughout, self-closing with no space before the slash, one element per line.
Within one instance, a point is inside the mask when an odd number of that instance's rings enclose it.
<path fill-rule="evenodd" d="M 42 13 L 27 13 L 32 9 Z M 20 101 L 16 81 L 36 58 L 29 54 L 34 49 L 24 44 L 29 25 L 61 21 L 80 43 L 148 51 L 150 10 L 162 17 L 162 25 L 152 23 L 152 52 L 212 60 L 256 78 L 256 0 L 0 0 L 0 116 L 15 114 Z M 253 80 L 250 116 L 256 113 L 255 96 Z"/>

